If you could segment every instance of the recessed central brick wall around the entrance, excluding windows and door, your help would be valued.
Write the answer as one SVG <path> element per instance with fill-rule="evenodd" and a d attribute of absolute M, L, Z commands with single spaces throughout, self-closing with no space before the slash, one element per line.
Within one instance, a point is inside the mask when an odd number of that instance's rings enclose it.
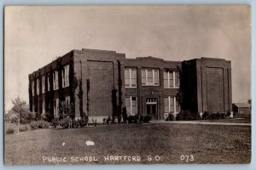
<path fill-rule="evenodd" d="M 179 88 L 164 88 L 163 73 L 165 69 L 179 71 L 181 62 L 166 61 L 154 57 L 142 57 L 137 59 L 125 59 L 125 67 L 137 68 L 137 88 L 125 88 L 125 96 L 137 97 L 137 111 L 141 116 L 147 116 L 147 99 L 156 99 L 157 113 L 156 116 L 152 118 L 162 120 L 164 117 L 164 98 L 168 96 L 176 97 L 179 91 Z M 143 68 L 159 70 L 159 86 L 142 86 L 141 71 Z"/>

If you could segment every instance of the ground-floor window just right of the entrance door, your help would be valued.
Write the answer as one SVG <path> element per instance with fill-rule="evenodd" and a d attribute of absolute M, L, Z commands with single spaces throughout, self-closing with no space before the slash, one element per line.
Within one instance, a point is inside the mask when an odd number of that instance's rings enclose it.
<path fill-rule="evenodd" d="M 169 113 L 178 113 L 180 111 L 180 106 L 178 104 L 178 101 L 176 97 L 165 97 L 165 116 Z"/>

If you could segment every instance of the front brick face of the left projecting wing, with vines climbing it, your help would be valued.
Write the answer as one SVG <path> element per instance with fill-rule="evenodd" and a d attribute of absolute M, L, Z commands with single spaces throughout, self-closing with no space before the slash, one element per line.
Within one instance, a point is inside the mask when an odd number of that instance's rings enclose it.
<path fill-rule="evenodd" d="M 114 51 L 105 50 L 75 50 L 74 52 L 74 77 L 80 80 L 83 89 L 82 101 L 75 96 L 75 115 L 80 117 L 81 107 L 84 113 L 97 122 L 102 122 L 103 117 L 113 116 L 112 91 L 116 89 L 116 102 L 118 105 L 118 60 L 121 65 L 121 78 L 123 80 L 123 60 L 125 54 L 117 54 Z M 88 87 L 90 85 L 90 88 Z M 122 91 L 124 88 L 121 89 Z M 79 87 L 75 88 L 75 94 L 79 94 Z M 124 101 L 124 94 L 121 96 Z M 121 106 L 122 107 L 122 106 Z M 114 113 L 118 114 L 118 113 Z"/>

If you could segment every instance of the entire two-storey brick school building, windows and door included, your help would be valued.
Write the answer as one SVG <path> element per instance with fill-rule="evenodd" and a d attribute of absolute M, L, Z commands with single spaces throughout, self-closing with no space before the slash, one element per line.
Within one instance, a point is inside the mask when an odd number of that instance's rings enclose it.
<path fill-rule="evenodd" d="M 72 50 L 29 75 L 30 111 L 49 119 L 70 116 L 89 122 L 108 116 L 151 116 L 164 120 L 179 111 L 232 110 L 231 61 L 154 57 L 126 59 L 115 51 Z"/>

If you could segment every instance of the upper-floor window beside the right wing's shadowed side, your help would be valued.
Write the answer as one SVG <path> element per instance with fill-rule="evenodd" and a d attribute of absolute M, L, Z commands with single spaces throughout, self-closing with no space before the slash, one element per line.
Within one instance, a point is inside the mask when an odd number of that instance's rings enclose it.
<path fill-rule="evenodd" d="M 165 88 L 179 88 L 179 73 L 178 71 L 164 72 L 164 87 Z"/>

